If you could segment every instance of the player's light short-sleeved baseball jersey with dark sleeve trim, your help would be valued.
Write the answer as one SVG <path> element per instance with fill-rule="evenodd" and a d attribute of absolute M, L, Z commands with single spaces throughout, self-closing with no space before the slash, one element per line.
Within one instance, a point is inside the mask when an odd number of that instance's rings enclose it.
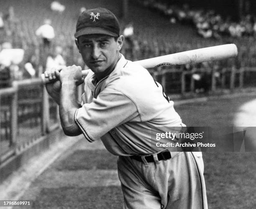
<path fill-rule="evenodd" d="M 152 129 L 181 127 L 174 103 L 142 66 L 121 55 L 115 69 L 96 84 L 90 71 L 84 80 L 82 107 L 75 121 L 89 141 L 101 139 L 114 155 L 147 155 L 155 146 Z"/>

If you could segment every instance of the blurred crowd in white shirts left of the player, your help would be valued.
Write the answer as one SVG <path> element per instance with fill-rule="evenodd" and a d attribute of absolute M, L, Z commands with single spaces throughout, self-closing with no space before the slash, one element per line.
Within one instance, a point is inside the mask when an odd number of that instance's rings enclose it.
<path fill-rule="evenodd" d="M 65 6 L 54 1 L 50 9 L 62 13 Z M 32 36 L 22 26 L 23 21 L 15 17 L 12 6 L 5 14 L 0 12 L 0 88 L 9 87 L 13 80 L 38 77 L 44 69 L 66 65 L 60 42 L 54 42 L 56 35 L 50 19 L 45 19 Z M 58 39 L 63 41 L 63 36 Z"/>

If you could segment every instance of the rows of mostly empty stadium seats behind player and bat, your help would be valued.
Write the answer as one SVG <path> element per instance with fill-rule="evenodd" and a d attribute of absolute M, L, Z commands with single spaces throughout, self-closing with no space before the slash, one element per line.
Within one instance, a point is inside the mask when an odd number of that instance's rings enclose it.
<path fill-rule="evenodd" d="M 54 45 L 61 45 L 64 49 L 68 49 L 66 59 L 69 59 L 68 64 L 71 64 L 79 56 L 77 50 L 72 47 L 79 9 L 82 6 L 89 9 L 102 5 L 107 6 L 116 14 L 120 14 L 119 1 L 108 1 L 108 5 L 106 2 L 106 0 L 98 0 L 97 2 L 93 0 L 62 0 L 60 3 L 66 6 L 66 10 L 63 13 L 56 13 L 50 8 L 51 0 L 2 0 L 0 10 L 6 13 L 8 8 L 13 6 L 14 20 L 12 24 L 7 26 L 9 38 L 12 38 L 13 47 L 27 47 L 27 53 L 31 53 L 29 46 L 36 45 L 41 41 L 35 36 L 36 28 L 42 24 L 45 18 L 51 19 L 56 31 Z M 246 66 L 255 66 L 256 64 L 256 60 L 253 58 L 256 49 L 252 47 L 256 46 L 254 38 L 203 39 L 197 36 L 195 28 L 179 23 L 171 24 L 164 15 L 150 11 L 143 5 L 138 5 L 135 0 L 129 2 L 129 11 L 126 20 L 120 19 L 120 23 L 122 29 L 126 23 L 130 21 L 134 23 L 134 39 L 138 41 L 140 50 L 130 56 L 132 60 L 232 42 L 237 44 L 239 51 L 236 65 L 241 65 L 242 60 Z M 75 50 L 70 51 L 71 48 Z M 125 53 L 125 50 L 122 52 Z M 70 56 L 74 56 L 74 59 L 71 59 Z"/>

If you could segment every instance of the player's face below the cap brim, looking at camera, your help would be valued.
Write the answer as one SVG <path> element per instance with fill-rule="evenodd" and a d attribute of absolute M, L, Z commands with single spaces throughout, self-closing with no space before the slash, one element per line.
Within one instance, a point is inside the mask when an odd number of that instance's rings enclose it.
<path fill-rule="evenodd" d="M 96 74 L 104 77 L 119 59 L 119 51 L 123 45 L 123 38 L 100 34 L 84 35 L 78 39 L 79 52 L 85 64 Z"/>

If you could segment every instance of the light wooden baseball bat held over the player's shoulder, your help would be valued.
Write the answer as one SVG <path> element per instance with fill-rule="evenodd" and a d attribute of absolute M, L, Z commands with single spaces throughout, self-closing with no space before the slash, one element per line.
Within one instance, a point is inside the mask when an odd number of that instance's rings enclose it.
<path fill-rule="evenodd" d="M 206 48 L 199 48 L 190 51 L 183 51 L 175 54 L 168 54 L 164 56 L 158 56 L 150 59 L 143 59 L 134 61 L 144 68 L 153 68 L 166 65 L 182 65 L 192 64 L 207 61 L 215 61 L 220 59 L 228 59 L 237 56 L 237 47 L 235 44 L 224 44 L 219 46 L 211 46 Z M 82 70 L 82 76 L 87 75 L 88 70 Z M 49 79 L 41 75 L 44 84 L 49 83 Z"/>

